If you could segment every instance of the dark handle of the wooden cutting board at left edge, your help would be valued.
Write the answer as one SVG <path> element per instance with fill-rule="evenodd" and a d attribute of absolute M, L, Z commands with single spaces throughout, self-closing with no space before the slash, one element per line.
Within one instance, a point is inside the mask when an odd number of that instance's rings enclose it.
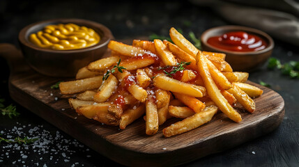
<path fill-rule="evenodd" d="M 6 61 L 8 61 L 10 74 L 17 70 L 23 70 L 20 68 L 20 64 L 23 63 L 24 58 L 22 52 L 15 45 L 0 43 L 0 56 L 6 58 Z"/>

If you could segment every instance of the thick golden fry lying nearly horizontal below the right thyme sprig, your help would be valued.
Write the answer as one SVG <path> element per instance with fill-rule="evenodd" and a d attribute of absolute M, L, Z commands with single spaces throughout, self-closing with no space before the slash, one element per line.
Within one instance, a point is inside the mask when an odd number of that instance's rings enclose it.
<path fill-rule="evenodd" d="M 157 88 L 169 90 L 175 93 L 183 93 L 192 97 L 203 97 L 206 95 L 206 88 L 187 84 L 176 79 L 158 75 L 153 79 L 153 85 Z"/>

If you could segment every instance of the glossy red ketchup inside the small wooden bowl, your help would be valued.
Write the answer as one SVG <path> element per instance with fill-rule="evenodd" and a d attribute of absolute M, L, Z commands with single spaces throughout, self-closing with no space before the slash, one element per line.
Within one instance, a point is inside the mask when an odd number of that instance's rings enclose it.
<path fill-rule="evenodd" d="M 208 44 L 229 51 L 259 51 L 268 45 L 259 36 L 243 31 L 234 31 L 208 38 Z"/>

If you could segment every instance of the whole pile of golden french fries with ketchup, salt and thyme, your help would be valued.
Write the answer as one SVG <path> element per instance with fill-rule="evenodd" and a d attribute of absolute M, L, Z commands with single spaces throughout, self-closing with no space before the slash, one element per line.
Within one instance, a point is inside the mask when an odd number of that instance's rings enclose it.
<path fill-rule="evenodd" d="M 61 94 L 77 94 L 69 99 L 72 109 L 106 125 L 125 129 L 144 118 L 148 135 L 168 119 L 181 118 L 162 130 L 165 137 L 204 125 L 217 111 L 240 122 L 236 102 L 254 112 L 252 98 L 263 90 L 245 84 L 247 72 L 233 72 L 225 54 L 200 51 L 174 28 L 169 35 L 174 43 L 110 41 L 111 56 L 80 69 L 75 81 L 61 82 Z M 181 76 L 174 78 L 176 72 Z"/>

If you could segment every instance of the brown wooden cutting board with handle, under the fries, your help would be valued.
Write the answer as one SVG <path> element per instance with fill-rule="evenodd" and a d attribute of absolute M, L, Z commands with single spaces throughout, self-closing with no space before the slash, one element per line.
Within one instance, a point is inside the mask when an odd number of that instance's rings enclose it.
<path fill-rule="evenodd" d="M 145 122 L 141 118 L 120 130 L 78 116 L 59 90 L 50 88 L 57 81 L 71 79 L 38 74 L 24 62 L 21 52 L 13 45 L 0 44 L 0 55 L 10 65 L 9 90 L 15 102 L 93 150 L 127 166 L 184 164 L 268 134 L 279 126 L 284 117 L 282 97 L 269 88 L 248 81 L 264 92 L 261 97 L 254 99 L 256 111 L 253 114 L 236 105 L 242 122 L 233 122 L 223 113 L 217 113 L 206 125 L 185 134 L 164 138 L 162 129 L 177 121 L 171 119 L 160 126 L 158 134 L 147 136 Z"/>

